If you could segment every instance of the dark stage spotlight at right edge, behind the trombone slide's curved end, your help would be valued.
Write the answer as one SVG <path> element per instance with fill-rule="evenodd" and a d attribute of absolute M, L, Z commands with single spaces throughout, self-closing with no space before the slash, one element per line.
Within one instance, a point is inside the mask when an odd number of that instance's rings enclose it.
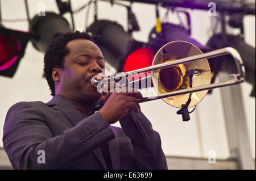
<path fill-rule="evenodd" d="M 221 34 L 214 35 L 207 43 L 212 49 L 220 49 L 224 47 L 233 47 L 241 55 L 243 64 L 245 64 L 245 81 L 253 85 L 253 91 L 250 96 L 255 97 L 255 48 L 247 45 L 241 36 L 225 35 L 227 43 L 224 43 Z M 218 71 L 226 71 L 228 73 L 236 73 L 236 64 L 231 57 L 223 56 L 222 60 L 215 60 L 218 65 Z M 218 72 L 217 71 L 217 72 Z"/>

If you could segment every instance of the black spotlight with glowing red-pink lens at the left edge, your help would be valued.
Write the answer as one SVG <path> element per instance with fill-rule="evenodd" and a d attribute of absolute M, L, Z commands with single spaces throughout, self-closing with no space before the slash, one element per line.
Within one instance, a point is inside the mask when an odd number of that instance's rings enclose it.
<path fill-rule="evenodd" d="M 31 34 L 0 27 L 0 75 L 13 77 Z"/>

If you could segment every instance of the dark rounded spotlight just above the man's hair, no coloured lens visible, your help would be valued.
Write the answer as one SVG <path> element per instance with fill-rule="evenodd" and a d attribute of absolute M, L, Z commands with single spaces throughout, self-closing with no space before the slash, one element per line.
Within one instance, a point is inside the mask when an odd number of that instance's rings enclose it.
<path fill-rule="evenodd" d="M 32 43 L 40 52 L 45 52 L 49 42 L 60 33 L 71 31 L 67 20 L 54 12 L 46 12 L 46 16 L 36 15 L 30 23 Z"/>

